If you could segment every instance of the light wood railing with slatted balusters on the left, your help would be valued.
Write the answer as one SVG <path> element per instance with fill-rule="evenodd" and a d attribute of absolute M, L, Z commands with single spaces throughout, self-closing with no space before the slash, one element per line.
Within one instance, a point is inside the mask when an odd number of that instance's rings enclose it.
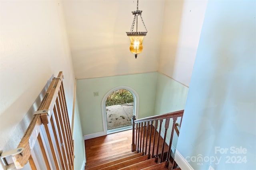
<path fill-rule="evenodd" d="M 62 79 L 62 72 L 52 79 L 18 148 L 0 155 L 7 170 L 21 169 L 27 163 L 31 169 L 74 169 L 74 141 Z"/>

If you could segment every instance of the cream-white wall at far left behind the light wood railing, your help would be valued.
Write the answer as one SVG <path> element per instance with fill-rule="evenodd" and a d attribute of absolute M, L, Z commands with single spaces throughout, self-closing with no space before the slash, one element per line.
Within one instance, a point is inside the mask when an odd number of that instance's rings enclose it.
<path fill-rule="evenodd" d="M 59 71 L 71 120 L 75 77 L 62 1 L 0 3 L 0 150 L 9 150 L 18 146 L 42 89 Z"/>

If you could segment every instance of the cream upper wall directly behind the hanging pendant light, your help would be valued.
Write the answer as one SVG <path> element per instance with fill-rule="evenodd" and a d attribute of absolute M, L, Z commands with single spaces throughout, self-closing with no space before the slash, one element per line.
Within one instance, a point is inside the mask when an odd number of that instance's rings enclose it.
<path fill-rule="evenodd" d="M 130 39 L 126 35 L 136 3 L 136 0 L 63 1 L 76 78 L 158 70 L 164 1 L 139 1 L 148 34 L 137 59 L 129 50 Z M 144 31 L 141 20 L 138 31 Z"/>

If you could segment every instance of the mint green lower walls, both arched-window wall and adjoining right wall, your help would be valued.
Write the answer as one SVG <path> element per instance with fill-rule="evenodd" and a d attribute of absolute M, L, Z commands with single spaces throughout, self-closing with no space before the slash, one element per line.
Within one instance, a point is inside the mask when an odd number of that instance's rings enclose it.
<path fill-rule="evenodd" d="M 83 135 L 103 131 L 102 98 L 117 86 L 129 86 L 138 93 L 139 117 L 137 118 L 182 110 L 188 94 L 188 87 L 159 72 L 78 79 L 76 97 Z M 99 92 L 99 96 L 94 97 L 93 92 Z M 167 139 L 170 139 L 170 129 Z M 172 144 L 174 149 L 176 143 L 175 133 Z"/>

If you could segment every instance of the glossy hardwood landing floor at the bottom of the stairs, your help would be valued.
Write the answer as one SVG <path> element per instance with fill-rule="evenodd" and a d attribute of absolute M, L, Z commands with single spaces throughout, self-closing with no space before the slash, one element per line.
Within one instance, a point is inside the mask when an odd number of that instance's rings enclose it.
<path fill-rule="evenodd" d="M 86 165 L 113 158 L 124 153 L 130 153 L 131 143 L 132 130 L 85 140 Z M 162 149 L 162 139 L 160 139 L 159 149 Z M 164 150 L 167 152 L 167 145 L 165 145 Z"/>

